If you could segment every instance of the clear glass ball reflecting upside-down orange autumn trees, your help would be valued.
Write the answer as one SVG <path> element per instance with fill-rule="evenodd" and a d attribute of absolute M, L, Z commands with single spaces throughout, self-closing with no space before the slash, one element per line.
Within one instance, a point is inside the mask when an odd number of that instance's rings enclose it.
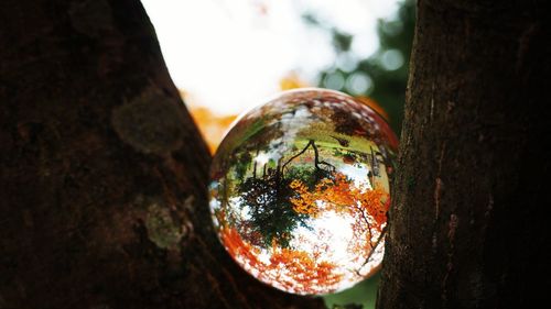
<path fill-rule="evenodd" d="M 219 240 L 257 279 L 338 291 L 380 266 L 398 140 L 345 93 L 282 92 L 242 114 L 210 168 Z"/>

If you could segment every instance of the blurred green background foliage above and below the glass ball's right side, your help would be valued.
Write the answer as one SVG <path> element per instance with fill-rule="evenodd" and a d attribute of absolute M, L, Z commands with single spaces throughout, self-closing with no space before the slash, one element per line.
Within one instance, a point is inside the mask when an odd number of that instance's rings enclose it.
<path fill-rule="evenodd" d="M 414 1 L 402 1 L 395 16 L 378 22 L 379 48 L 363 59 L 352 54 L 354 36 L 321 24 L 313 15 L 304 15 L 304 21 L 328 31 L 336 53 L 334 64 L 320 73 L 317 86 L 374 99 L 388 113 L 390 125 L 399 135 L 413 43 Z M 327 308 L 372 309 L 379 280 L 377 274 L 350 289 L 326 295 L 325 304 Z"/>

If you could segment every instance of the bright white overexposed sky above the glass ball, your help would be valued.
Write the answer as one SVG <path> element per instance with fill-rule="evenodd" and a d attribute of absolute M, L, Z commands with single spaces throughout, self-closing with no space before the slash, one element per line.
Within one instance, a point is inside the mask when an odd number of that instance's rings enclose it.
<path fill-rule="evenodd" d="M 314 13 L 355 36 L 353 53 L 378 47 L 376 22 L 393 14 L 398 0 L 142 0 L 164 59 L 187 103 L 239 113 L 279 90 L 296 71 L 313 82 L 332 65 L 326 32 L 309 27 Z"/>

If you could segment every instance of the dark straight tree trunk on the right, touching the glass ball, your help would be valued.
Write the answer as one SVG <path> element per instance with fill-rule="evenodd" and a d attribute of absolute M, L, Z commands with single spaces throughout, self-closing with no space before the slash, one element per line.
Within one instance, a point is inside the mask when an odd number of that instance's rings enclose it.
<path fill-rule="evenodd" d="M 547 296 L 545 4 L 418 2 L 378 308 L 538 308 Z"/>

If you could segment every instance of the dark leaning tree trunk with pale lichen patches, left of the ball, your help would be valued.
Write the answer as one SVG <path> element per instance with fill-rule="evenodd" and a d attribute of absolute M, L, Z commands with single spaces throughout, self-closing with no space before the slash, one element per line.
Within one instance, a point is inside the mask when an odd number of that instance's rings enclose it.
<path fill-rule="evenodd" d="M 323 308 L 216 240 L 139 1 L 3 0 L 0 21 L 0 308 Z"/>

